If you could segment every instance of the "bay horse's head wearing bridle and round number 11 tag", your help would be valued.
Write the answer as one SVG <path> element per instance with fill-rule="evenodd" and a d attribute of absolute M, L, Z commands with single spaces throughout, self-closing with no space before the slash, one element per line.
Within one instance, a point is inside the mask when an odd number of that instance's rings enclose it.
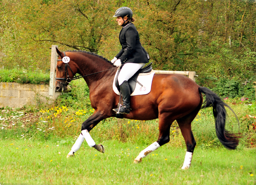
<path fill-rule="evenodd" d="M 78 67 L 74 62 L 74 55 L 71 52 L 60 52 L 56 48 L 58 53 L 58 60 L 56 65 L 56 91 L 58 92 L 68 92 L 70 89 L 68 84 L 74 78 L 78 71 Z"/>

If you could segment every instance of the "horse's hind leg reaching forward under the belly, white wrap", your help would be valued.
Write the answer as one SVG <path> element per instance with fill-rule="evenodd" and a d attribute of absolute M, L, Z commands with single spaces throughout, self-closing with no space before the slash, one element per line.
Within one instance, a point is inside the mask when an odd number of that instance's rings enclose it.
<path fill-rule="evenodd" d="M 166 117 L 163 114 L 159 116 L 159 137 L 158 140 L 146 149 L 142 150 L 140 154 L 134 159 L 134 163 L 140 163 L 142 158 L 146 157 L 152 151 L 155 151 L 160 146 L 168 143 L 170 141 L 170 127 L 172 125 L 170 117 Z"/>

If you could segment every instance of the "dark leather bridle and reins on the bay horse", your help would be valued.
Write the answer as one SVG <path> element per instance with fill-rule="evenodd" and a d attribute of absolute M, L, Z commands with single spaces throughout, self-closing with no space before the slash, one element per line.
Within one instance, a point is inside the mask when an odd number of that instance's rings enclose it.
<path fill-rule="evenodd" d="M 63 52 L 63 53 L 64 53 L 64 56 L 66 56 L 65 52 Z M 57 61 L 62 61 L 62 59 L 58 59 Z M 72 74 L 73 74 L 73 76 L 74 76 L 73 79 L 69 78 L 69 75 L 68 75 L 68 68 L 70 69 L 70 71 L 72 72 Z M 115 67 L 115 68 L 117 68 L 117 67 Z M 115 69 L 115 68 L 111 68 L 111 69 L 108 69 L 108 70 L 113 70 L 113 69 Z M 97 74 L 97 73 L 104 72 L 104 71 L 108 71 L 108 70 L 99 71 L 99 72 L 92 73 L 92 74 L 88 74 L 88 75 L 85 75 L 85 76 L 82 76 L 82 75 L 76 76 L 76 75 L 73 73 L 73 71 L 72 71 L 72 69 L 70 68 L 70 66 L 68 65 L 68 63 L 65 63 L 65 78 L 55 78 L 55 81 L 58 82 L 58 83 L 60 83 L 60 84 L 62 84 L 62 82 L 60 82 L 60 81 L 58 81 L 58 80 L 66 80 L 66 82 L 65 82 L 63 85 L 64 85 L 64 86 L 68 86 L 68 85 L 66 85 L 66 84 L 69 84 L 72 80 L 77 80 L 77 79 L 79 79 L 79 78 L 83 78 L 83 77 L 86 77 L 86 76 L 90 76 L 90 75 Z M 67 78 L 66 78 L 66 74 L 67 74 Z"/>

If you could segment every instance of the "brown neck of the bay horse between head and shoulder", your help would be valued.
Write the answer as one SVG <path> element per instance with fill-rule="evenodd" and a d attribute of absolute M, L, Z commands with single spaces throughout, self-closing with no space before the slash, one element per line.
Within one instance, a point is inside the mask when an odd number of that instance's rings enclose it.
<path fill-rule="evenodd" d="M 98 56 L 85 56 L 84 62 L 78 64 L 80 73 L 84 77 L 89 89 L 98 86 L 104 80 L 115 75 L 114 67 Z M 113 70 L 111 70 L 113 69 Z"/>

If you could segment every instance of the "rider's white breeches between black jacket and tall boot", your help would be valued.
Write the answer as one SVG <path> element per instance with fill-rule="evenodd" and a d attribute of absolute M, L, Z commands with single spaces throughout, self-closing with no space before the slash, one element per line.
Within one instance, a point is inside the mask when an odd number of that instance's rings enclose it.
<path fill-rule="evenodd" d="M 139 69 L 143 68 L 145 64 L 140 63 L 126 63 L 120 70 L 118 75 L 118 84 L 119 86 L 124 82 L 128 81 Z"/>

